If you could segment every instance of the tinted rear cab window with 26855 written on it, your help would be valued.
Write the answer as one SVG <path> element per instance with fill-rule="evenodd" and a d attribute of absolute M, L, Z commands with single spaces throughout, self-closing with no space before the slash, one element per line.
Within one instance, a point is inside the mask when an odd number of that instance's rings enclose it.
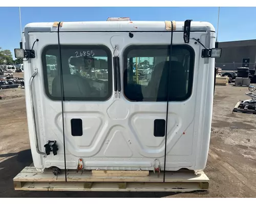
<path fill-rule="evenodd" d="M 104 46 L 51 45 L 42 53 L 45 89 L 54 100 L 61 100 L 62 62 L 65 100 L 107 100 L 112 94 L 112 57 Z"/>

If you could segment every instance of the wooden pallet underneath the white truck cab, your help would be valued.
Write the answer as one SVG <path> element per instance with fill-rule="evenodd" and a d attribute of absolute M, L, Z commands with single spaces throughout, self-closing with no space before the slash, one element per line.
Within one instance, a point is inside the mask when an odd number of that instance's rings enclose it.
<path fill-rule="evenodd" d="M 66 182 L 65 173 L 55 176 L 51 171 L 41 173 L 36 171 L 35 167 L 29 166 L 14 177 L 14 189 L 24 191 L 191 192 L 206 191 L 209 188 L 209 179 L 203 171 L 168 171 L 165 173 L 165 183 L 163 183 L 163 171 L 154 173 L 117 170 L 116 174 L 113 174 L 113 171 L 99 171 L 96 175 L 95 172 L 76 173 L 76 171 L 69 170 Z M 133 173 L 137 174 L 133 175 Z"/>

